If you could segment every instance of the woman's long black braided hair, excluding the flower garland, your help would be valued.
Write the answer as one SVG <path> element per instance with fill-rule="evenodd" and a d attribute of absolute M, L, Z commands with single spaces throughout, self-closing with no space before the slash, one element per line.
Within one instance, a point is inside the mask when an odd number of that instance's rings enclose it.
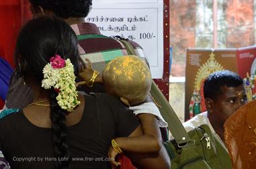
<path fill-rule="evenodd" d="M 38 17 L 29 21 L 22 28 L 17 38 L 15 48 L 15 62 L 19 76 L 32 77 L 40 86 L 42 70 L 55 54 L 62 58 L 69 58 L 74 65 L 75 74 L 78 73 L 77 36 L 71 27 L 56 17 Z M 56 101 L 58 93 L 54 89 L 49 91 L 50 119 L 52 121 L 52 136 L 54 156 L 69 159 L 67 145 L 67 111 L 60 108 Z M 69 168 L 70 161 L 56 161 L 55 168 Z"/>

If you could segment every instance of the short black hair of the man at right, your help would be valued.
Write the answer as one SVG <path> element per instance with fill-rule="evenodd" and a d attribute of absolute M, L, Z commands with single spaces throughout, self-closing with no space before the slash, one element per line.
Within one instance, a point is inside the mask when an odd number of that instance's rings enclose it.
<path fill-rule="evenodd" d="M 243 79 L 230 70 L 213 72 L 204 81 L 204 98 L 215 100 L 222 94 L 220 87 L 239 87 L 243 85 Z"/>

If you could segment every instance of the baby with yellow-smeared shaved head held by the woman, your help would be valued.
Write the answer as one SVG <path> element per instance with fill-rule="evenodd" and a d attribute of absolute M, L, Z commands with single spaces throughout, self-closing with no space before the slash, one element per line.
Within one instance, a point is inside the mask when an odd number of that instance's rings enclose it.
<path fill-rule="evenodd" d="M 95 71 L 91 68 L 91 62 L 87 60 L 87 63 L 86 74 L 85 71 L 79 74 L 85 81 L 79 82 L 78 85 L 91 84 L 88 77 L 92 77 L 92 74 L 95 75 Z M 155 103 L 150 101 L 152 78 L 146 63 L 138 56 L 120 56 L 108 62 L 102 75 L 99 74 L 94 78 L 93 82 L 103 83 L 108 94 L 117 97 L 134 111 L 134 114 L 140 119 L 144 133 L 140 137 L 114 139 L 114 145 L 112 143 L 112 148 L 108 152 L 110 158 L 115 158 L 122 150 L 138 153 L 159 151 L 162 144 L 159 127 L 167 127 L 167 123 Z M 120 163 L 112 162 L 112 164 L 117 166 Z"/>

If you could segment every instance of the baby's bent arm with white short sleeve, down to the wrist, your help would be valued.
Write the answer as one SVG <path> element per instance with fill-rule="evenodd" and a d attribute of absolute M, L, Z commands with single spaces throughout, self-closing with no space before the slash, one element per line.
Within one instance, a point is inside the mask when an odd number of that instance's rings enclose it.
<path fill-rule="evenodd" d="M 118 137 L 116 142 L 121 150 L 127 152 L 149 153 L 161 149 L 162 137 L 159 127 L 167 127 L 167 123 L 154 103 L 142 103 L 129 107 L 140 119 L 143 135 L 139 137 Z M 161 125 L 161 126 L 159 126 Z"/>

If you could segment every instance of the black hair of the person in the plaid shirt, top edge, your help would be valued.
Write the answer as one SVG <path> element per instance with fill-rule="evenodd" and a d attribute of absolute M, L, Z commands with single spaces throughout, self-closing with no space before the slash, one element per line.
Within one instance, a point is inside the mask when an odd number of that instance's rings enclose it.
<path fill-rule="evenodd" d="M 52 11 L 62 19 L 86 17 L 91 9 L 92 0 L 30 0 L 34 8 L 38 6 Z"/>

